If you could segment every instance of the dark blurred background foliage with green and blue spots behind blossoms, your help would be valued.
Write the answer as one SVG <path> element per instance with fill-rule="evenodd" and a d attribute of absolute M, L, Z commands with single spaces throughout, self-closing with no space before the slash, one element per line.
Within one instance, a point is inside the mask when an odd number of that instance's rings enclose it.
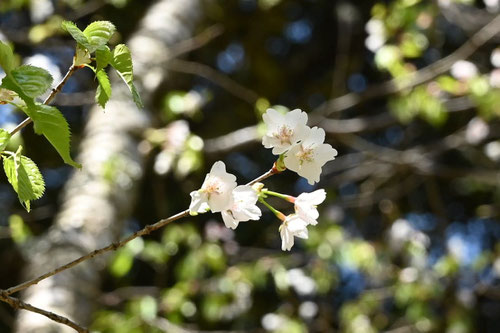
<path fill-rule="evenodd" d="M 116 44 L 151 2 L 2 0 L 0 38 L 20 62 L 57 80 L 72 57 L 62 19 L 110 20 Z M 198 31 L 211 40 L 173 60 L 174 80 L 155 96 L 155 126 L 141 143 L 147 172 L 124 235 L 185 209 L 217 159 L 240 183 L 268 170 L 273 156 L 252 130 L 261 130 L 271 105 L 329 115 L 313 118 L 339 151 L 321 182 L 311 187 L 288 172 L 266 181 L 292 195 L 325 188 L 319 224 L 291 253 L 280 250 L 268 213 L 235 231 L 206 214 L 136 239 L 103 272 L 92 328 L 498 332 L 500 35 L 417 85 L 405 80 L 453 55 L 499 7 L 498 0 L 205 1 Z M 391 79 L 396 89 L 383 84 Z M 75 144 L 93 88 L 90 71 L 80 71 L 57 101 Z M 355 102 L 335 106 L 346 96 Z M 20 120 L 0 106 L 2 127 Z M 249 130 L 225 136 L 239 129 Z M 16 140 L 11 145 L 24 142 L 40 165 L 47 193 L 27 214 L 0 178 L 3 287 L 18 282 L 23 244 L 50 226 L 72 172 L 32 131 Z M 114 172 L 119 163 L 111 159 L 102 171 L 110 182 L 123 176 Z M 0 309 L 8 332 L 13 313 Z"/>

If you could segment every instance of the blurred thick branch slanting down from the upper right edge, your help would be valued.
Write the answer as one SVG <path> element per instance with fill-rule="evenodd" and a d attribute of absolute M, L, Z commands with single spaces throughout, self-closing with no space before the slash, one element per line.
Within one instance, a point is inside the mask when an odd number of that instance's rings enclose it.
<path fill-rule="evenodd" d="M 328 116 L 334 112 L 340 112 L 353 107 L 362 101 L 390 95 L 432 80 L 434 77 L 448 71 L 458 60 L 466 59 L 471 56 L 479 47 L 495 37 L 498 33 L 500 33 L 500 15 L 497 15 L 450 55 L 414 73 L 403 77 L 397 77 L 368 88 L 363 93 L 349 93 L 334 98 L 321 105 L 317 109 L 317 113 Z"/>

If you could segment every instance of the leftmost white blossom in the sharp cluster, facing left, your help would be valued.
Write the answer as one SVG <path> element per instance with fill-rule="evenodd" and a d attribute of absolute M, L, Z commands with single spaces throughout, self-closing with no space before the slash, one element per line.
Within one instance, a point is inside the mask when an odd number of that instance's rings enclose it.
<path fill-rule="evenodd" d="M 232 191 L 235 188 L 236 177 L 226 172 L 224 162 L 215 162 L 201 188 L 191 192 L 189 212 L 204 213 L 210 209 L 216 213 L 228 209 L 232 205 Z"/>

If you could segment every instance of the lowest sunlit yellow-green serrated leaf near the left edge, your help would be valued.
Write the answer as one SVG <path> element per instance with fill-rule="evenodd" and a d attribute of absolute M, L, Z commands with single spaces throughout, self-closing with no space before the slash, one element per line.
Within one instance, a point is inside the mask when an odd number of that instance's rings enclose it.
<path fill-rule="evenodd" d="M 3 159 L 3 168 L 19 201 L 29 212 L 30 201 L 40 198 L 45 191 L 45 183 L 40 170 L 35 162 L 21 155 L 21 147 L 16 154 Z"/>

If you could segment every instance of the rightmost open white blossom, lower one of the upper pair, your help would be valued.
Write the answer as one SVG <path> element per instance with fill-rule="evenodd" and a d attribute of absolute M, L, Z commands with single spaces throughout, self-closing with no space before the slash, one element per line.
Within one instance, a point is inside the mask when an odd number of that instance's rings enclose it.
<path fill-rule="evenodd" d="M 285 156 L 285 166 L 297 172 L 313 185 L 319 182 L 321 168 L 326 162 L 335 159 L 337 151 L 325 141 L 325 131 L 313 127 L 308 130 L 309 135 L 300 143 L 294 145 Z"/>

